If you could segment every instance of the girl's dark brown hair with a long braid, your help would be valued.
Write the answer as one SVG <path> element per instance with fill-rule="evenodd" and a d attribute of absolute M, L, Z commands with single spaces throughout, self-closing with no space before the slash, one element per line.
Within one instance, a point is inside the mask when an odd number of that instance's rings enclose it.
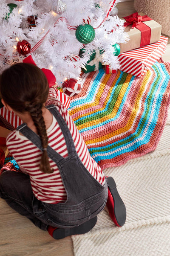
<path fill-rule="evenodd" d="M 28 112 L 37 128 L 42 148 L 47 148 L 48 137 L 42 116 L 42 107 L 48 98 L 48 81 L 39 67 L 17 63 L 4 70 L 0 77 L 0 93 L 3 100 L 20 113 Z M 42 151 L 40 169 L 52 173 L 47 151 Z"/>

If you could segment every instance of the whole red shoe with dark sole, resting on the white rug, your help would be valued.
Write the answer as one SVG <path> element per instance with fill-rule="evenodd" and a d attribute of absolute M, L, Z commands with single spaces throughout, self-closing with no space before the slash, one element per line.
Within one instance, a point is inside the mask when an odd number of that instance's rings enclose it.
<path fill-rule="evenodd" d="M 112 221 L 118 227 L 122 227 L 126 221 L 126 207 L 120 197 L 116 183 L 112 177 L 107 177 L 108 181 L 108 200 L 106 206 L 108 207 L 109 215 Z"/>

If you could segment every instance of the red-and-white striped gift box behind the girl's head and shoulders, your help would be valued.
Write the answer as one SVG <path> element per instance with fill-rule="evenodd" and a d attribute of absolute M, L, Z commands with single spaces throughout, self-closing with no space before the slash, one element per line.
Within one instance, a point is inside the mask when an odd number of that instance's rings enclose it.
<path fill-rule="evenodd" d="M 70 108 L 70 98 L 65 93 L 62 93 L 61 91 L 57 90 L 57 88 L 52 87 L 49 90 L 49 94 L 62 102 L 65 108 Z M 0 108 L 0 119 L 6 128 L 11 131 L 23 123 L 23 121 L 17 115 L 15 115 L 14 112 L 8 111 L 5 107 Z"/>

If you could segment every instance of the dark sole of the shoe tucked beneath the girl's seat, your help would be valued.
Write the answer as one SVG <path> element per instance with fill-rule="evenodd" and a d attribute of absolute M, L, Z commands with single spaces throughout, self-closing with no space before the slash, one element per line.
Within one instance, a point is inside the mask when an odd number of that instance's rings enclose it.
<path fill-rule="evenodd" d="M 97 222 L 97 216 L 92 218 L 89 221 L 86 221 L 85 223 L 79 225 L 78 227 L 72 227 L 72 228 L 57 228 L 53 232 L 53 238 L 54 239 L 62 239 L 66 236 L 72 236 L 72 235 L 80 235 L 85 234 L 92 230 L 92 228 L 95 226 Z"/>

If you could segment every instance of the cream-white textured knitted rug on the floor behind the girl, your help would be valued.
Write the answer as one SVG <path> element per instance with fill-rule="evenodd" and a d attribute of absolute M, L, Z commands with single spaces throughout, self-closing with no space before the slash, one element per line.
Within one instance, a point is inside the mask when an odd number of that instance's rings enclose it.
<path fill-rule="evenodd" d="M 125 202 L 127 219 L 116 227 L 108 213 L 96 226 L 71 236 L 75 256 L 170 256 L 170 111 L 155 151 L 105 169 Z"/>

